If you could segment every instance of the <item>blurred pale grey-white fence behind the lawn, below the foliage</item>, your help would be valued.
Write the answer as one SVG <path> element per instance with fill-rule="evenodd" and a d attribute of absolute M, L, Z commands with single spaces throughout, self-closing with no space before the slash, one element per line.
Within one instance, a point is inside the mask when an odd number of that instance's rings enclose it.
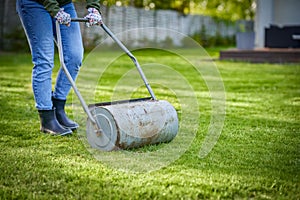
<path fill-rule="evenodd" d="M 76 3 L 78 16 L 86 14 L 85 4 Z M 190 36 L 195 33 L 200 33 L 201 29 L 205 28 L 206 34 L 215 36 L 233 36 L 236 33 L 234 23 L 225 23 L 216 21 L 209 16 L 202 15 L 182 15 L 176 11 L 170 10 L 145 10 L 134 7 L 117 7 L 112 6 L 101 8 L 104 23 L 114 32 L 122 33 L 123 37 L 140 38 L 151 41 L 162 41 L 166 38 L 171 38 L 174 45 L 180 45 L 182 38 L 174 37 L 174 34 L 169 34 L 169 31 L 178 32 L 182 36 Z M 157 31 L 149 32 L 150 27 L 155 27 Z M 95 42 L 95 38 L 104 37 L 103 31 L 100 28 L 86 28 L 82 26 L 83 36 L 86 41 Z M 139 29 L 136 32 L 126 31 Z M 143 31 L 145 29 L 145 31 Z M 153 29 L 154 30 L 154 29 Z M 165 31 L 163 31 L 165 30 Z M 137 35 L 132 35 L 132 34 Z"/>

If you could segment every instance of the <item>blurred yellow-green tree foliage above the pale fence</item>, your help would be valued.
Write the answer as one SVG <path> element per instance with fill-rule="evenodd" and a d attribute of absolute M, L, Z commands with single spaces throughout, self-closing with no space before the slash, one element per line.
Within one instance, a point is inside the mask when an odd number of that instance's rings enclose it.
<path fill-rule="evenodd" d="M 78 0 L 83 1 L 83 0 Z M 171 9 L 182 14 L 204 14 L 226 20 L 251 20 L 255 0 L 100 0 L 105 6 L 134 6 L 149 9 Z"/>

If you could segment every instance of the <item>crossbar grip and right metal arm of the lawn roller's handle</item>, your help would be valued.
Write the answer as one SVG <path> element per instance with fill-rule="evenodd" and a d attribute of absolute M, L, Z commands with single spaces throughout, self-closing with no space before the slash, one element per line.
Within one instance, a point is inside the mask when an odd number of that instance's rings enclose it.
<path fill-rule="evenodd" d="M 72 18 L 71 21 L 72 22 L 88 22 L 89 20 L 86 18 Z M 131 60 L 135 64 L 141 78 L 143 79 L 144 84 L 145 84 L 149 94 L 151 95 L 152 99 L 157 100 L 150 84 L 148 83 L 148 80 L 147 80 L 144 72 L 142 71 L 142 68 L 141 68 L 138 60 L 132 55 L 132 53 L 124 46 L 124 44 L 111 32 L 111 30 L 104 23 L 101 24 L 101 27 L 119 45 L 119 47 L 131 58 Z"/>

